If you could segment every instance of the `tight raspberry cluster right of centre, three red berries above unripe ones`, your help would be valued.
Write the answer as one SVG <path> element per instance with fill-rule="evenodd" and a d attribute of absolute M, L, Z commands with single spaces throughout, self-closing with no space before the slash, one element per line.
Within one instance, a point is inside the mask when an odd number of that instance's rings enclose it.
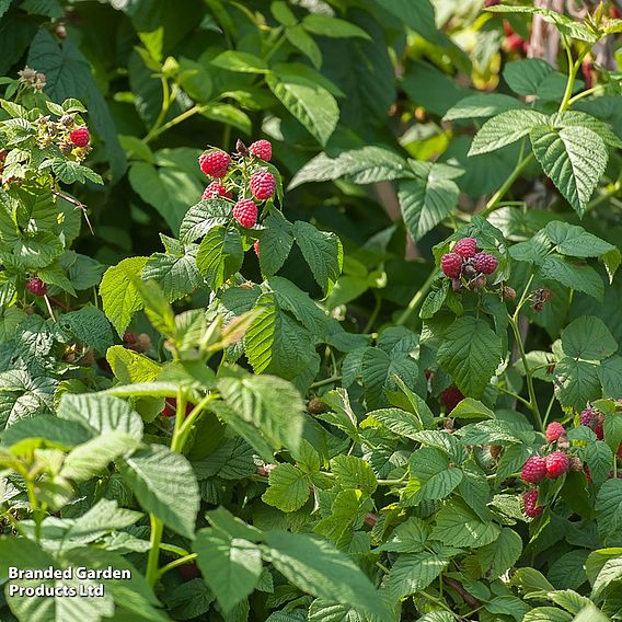
<path fill-rule="evenodd" d="M 499 265 L 497 257 L 477 250 L 477 240 L 462 238 L 453 250 L 440 257 L 440 269 L 451 279 L 454 291 L 462 287 L 477 291 Z"/>

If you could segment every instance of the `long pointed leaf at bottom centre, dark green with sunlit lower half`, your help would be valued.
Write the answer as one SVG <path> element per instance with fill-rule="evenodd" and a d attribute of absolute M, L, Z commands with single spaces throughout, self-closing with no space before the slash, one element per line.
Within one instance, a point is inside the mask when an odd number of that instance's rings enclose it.
<path fill-rule="evenodd" d="M 344 553 L 303 533 L 264 533 L 274 567 L 302 591 L 389 620 L 373 584 Z"/>

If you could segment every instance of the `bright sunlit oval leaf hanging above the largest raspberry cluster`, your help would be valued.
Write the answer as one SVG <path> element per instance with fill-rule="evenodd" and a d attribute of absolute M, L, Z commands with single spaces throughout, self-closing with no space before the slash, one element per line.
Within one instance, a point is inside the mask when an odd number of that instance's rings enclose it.
<path fill-rule="evenodd" d="M 285 70 L 273 70 L 266 82 L 289 113 L 324 147 L 339 119 L 335 97 L 318 82 Z"/>

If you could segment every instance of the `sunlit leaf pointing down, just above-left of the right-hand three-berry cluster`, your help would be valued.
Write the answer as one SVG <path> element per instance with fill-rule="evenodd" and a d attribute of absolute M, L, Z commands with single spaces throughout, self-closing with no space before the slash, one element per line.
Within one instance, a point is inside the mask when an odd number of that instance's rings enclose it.
<path fill-rule="evenodd" d="M 421 177 L 401 182 L 398 193 L 402 217 L 415 241 L 451 212 L 460 194 L 450 166 L 417 162 L 416 172 Z"/>

